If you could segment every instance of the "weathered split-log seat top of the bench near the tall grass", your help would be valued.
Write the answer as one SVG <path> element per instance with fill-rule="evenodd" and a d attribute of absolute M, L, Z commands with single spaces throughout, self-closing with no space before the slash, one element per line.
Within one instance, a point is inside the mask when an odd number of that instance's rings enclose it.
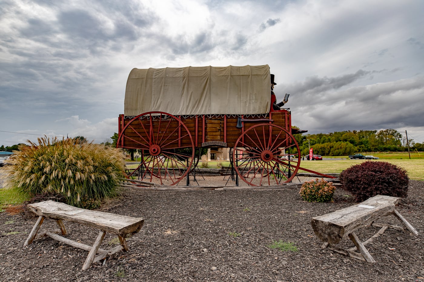
<path fill-rule="evenodd" d="M 28 208 L 38 216 L 81 223 L 121 236 L 138 232 L 144 222 L 143 218 L 84 210 L 51 200 L 30 204 Z"/>

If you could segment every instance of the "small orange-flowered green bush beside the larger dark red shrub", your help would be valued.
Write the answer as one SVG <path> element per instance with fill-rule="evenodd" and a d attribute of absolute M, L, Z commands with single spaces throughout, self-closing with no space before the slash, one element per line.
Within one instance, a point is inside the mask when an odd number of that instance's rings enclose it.
<path fill-rule="evenodd" d="M 333 201 L 335 190 L 333 182 L 317 178 L 303 183 L 299 194 L 305 201 L 324 203 Z"/>

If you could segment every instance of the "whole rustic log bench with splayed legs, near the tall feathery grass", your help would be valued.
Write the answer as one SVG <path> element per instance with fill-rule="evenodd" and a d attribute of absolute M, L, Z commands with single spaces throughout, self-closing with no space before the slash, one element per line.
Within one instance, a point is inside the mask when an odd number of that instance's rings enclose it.
<path fill-rule="evenodd" d="M 126 242 L 126 236 L 131 233 L 137 233 L 144 223 L 143 218 L 119 216 L 112 213 L 84 210 L 50 200 L 28 205 L 28 209 L 38 215 L 39 218 L 25 241 L 24 246 L 28 246 L 36 238 L 48 236 L 62 243 L 89 251 L 82 267 L 83 270 L 88 269 L 92 263 L 103 260 L 108 255 L 110 256 L 121 250 L 128 251 L 129 249 Z M 56 220 L 56 223 L 59 225 L 59 229 L 38 233 L 38 230 L 45 218 L 52 218 Z M 66 236 L 68 234 L 63 221 L 71 221 L 83 224 L 87 227 L 99 229 L 99 235 L 97 236 L 93 246 L 78 243 L 62 237 L 61 235 Z M 116 234 L 119 238 L 120 245 L 108 250 L 100 249 L 100 245 L 106 232 Z M 61 235 L 58 235 L 58 233 L 61 233 Z"/>

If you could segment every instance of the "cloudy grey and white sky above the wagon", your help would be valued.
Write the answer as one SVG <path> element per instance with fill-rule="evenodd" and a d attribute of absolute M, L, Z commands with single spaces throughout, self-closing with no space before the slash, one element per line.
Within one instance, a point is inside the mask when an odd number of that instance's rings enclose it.
<path fill-rule="evenodd" d="M 309 133 L 424 141 L 424 1 L 2 0 L 0 145 L 117 132 L 132 68 L 271 67 Z"/>

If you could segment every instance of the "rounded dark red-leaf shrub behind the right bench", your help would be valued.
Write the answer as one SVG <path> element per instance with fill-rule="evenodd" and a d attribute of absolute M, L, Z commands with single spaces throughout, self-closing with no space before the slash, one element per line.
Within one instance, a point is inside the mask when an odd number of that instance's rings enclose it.
<path fill-rule="evenodd" d="M 366 161 L 345 169 L 340 183 L 357 202 L 376 195 L 404 198 L 408 195 L 407 171 L 387 162 Z"/>

